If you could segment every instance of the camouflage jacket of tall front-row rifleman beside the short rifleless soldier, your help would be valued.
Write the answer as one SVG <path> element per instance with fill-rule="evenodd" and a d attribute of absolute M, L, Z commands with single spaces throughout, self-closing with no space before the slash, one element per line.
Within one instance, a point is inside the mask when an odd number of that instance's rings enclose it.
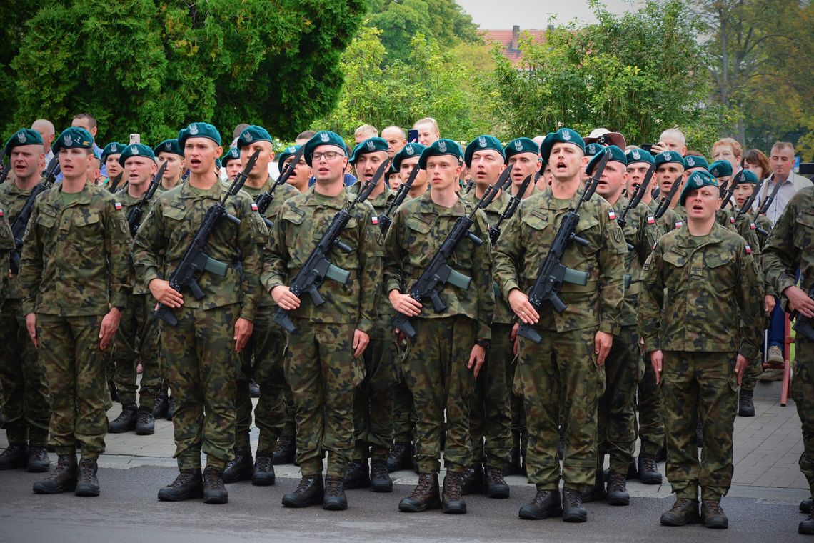
<path fill-rule="evenodd" d="M 548 255 L 562 217 L 574 208 L 580 195 L 570 200 L 555 199 L 551 187 L 523 200 L 501 234 L 495 253 L 495 276 L 508 299 L 515 288 L 527 293 L 534 284 L 540 265 Z M 574 331 L 594 328 L 618 334 L 624 298 L 624 256 L 628 247 L 622 229 L 610 218 L 612 209 L 594 195 L 580 208 L 575 234 L 588 241 L 588 247 L 569 243 L 562 264 L 588 274 L 586 286 L 563 282 L 559 297 L 567 305 L 562 313 L 549 304 L 540 311 L 536 327 L 548 331 Z"/>

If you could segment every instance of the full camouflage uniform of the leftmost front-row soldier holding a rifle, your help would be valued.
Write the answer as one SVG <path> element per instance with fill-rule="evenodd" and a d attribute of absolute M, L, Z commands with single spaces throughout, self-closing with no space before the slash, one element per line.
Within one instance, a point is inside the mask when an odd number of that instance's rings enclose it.
<path fill-rule="evenodd" d="M 184 184 L 154 200 L 136 234 L 133 261 L 138 281 L 168 278 L 181 261 L 204 215 L 220 200 L 224 186 L 208 190 Z M 223 220 L 207 243 L 208 256 L 229 265 L 224 277 L 204 272 L 195 300 L 182 291 L 184 304 L 173 309 L 177 326 L 159 322 L 161 350 L 167 363 L 169 388 L 176 401 L 173 416 L 179 470 L 200 467 L 201 450 L 207 465 L 223 469 L 234 445 L 234 383 L 239 360 L 234 353 L 234 322 L 254 321 L 260 300 L 260 258 L 267 230 L 252 199 L 239 192 L 226 209 L 241 221 Z M 242 266 L 242 274 L 238 263 Z"/>

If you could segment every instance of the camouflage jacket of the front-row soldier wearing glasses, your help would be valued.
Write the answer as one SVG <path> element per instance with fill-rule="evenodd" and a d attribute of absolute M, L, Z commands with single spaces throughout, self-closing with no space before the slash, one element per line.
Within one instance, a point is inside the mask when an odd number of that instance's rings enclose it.
<path fill-rule="evenodd" d="M 354 199 L 347 190 L 329 197 L 318 194 L 313 186 L 287 199 L 274 218 L 274 228 L 265 247 L 261 281 L 266 291 L 294 280 L 336 214 Z M 355 324 L 357 329 L 370 334 L 376 317 L 376 292 L 382 278 L 383 236 L 369 202 L 357 204 L 350 213 L 351 219 L 339 239 L 351 247 L 351 252 L 335 247 L 327 255 L 331 264 L 350 272 L 348 284 L 326 279 L 319 288 L 325 304 L 314 306 L 311 297 L 303 294 L 300 307 L 291 311 L 291 317 L 311 322 Z"/>

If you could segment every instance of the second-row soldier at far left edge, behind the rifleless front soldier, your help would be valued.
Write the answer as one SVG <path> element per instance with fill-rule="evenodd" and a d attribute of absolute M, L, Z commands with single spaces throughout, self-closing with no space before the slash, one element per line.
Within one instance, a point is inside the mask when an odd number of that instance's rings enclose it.
<path fill-rule="evenodd" d="M 12 224 L 40 180 L 42 145 L 42 137 L 32 129 L 20 129 L 6 142 L 5 155 L 14 180 L 0 185 L 0 208 L 3 218 Z M 25 467 L 33 472 L 48 471 L 50 403 L 46 375 L 25 327 L 19 278 L 7 269 L 2 275 L 4 282 L 8 278 L 0 313 L 0 384 L 8 447 L 0 454 L 0 470 Z"/>

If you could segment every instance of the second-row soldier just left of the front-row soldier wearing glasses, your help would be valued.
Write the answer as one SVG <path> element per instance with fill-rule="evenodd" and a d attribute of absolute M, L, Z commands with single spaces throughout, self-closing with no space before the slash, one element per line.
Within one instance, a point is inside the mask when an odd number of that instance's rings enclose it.
<path fill-rule="evenodd" d="M 269 177 L 269 164 L 274 160 L 271 135 L 262 126 L 250 125 L 240 133 L 237 141 L 240 151 L 239 164 L 246 164 L 249 157 L 260 151 L 252 171 L 248 173 L 243 190 L 257 200 L 274 185 Z M 227 166 L 228 169 L 228 166 Z M 274 217 L 277 210 L 297 191 L 293 186 L 282 185 L 274 190 L 274 200 L 265 210 L 265 217 Z M 286 382 L 282 370 L 282 351 L 286 337 L 279 326 L 272 322 L 277 305 L 265 292 L 260 296 L 254 319 L 254 330 L 246 347 L 240 353 L 240 370 L 236 384 L 234 406 L 237 410 L 234 435 L 234 460 L 223 473 L 225 483 L 252 480 L 252 484 L 274 484 L 274 445 L 286 420 L 286 401 L 283 396 Z M 257 457 L 252 462 L 249 446 L 249 427 L 252 425 L 252 397 L 249 383 L 254 379 L 260 385 L 260 399 L 255 409 L 255 425 L 260 430 L 257 440 Z"/>

